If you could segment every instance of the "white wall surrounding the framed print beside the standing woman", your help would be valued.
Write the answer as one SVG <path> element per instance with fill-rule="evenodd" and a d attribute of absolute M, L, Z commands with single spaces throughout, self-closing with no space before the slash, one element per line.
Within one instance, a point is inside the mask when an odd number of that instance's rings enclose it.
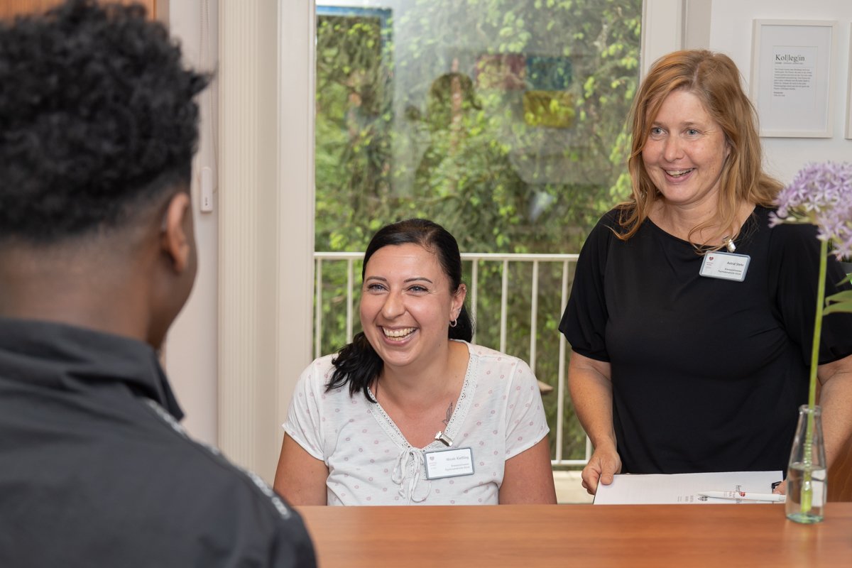
<path fill-rule="evenodd" d="M 838 20 L 834 64 L 832 138 L 763 138 L 766 167 L 784 183 L 806 162 L 852 161 L 852 140 L 844 139 L 849 85 L 849 0 L 712 0 L 710 49 L 731 57 L 746 84 L 751 77 L 752 20 Z"/>

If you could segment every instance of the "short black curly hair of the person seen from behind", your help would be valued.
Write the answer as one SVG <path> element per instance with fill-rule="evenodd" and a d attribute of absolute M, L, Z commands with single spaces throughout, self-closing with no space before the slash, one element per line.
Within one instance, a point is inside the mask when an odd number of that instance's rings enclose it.
<path fill-rule="evenodd" d="M 0 21 L 0 240 L 118 227 L 188 182 L 209 81 L 141 4 Z"/>

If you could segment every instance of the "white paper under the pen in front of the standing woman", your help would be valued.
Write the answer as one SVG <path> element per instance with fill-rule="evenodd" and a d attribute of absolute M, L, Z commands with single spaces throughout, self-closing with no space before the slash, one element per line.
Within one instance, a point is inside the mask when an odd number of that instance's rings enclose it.
<path fill-rule="evenodd" d="M 596 505 L 739 503 L 739 499 L 699 498 L 702 491 L 771 493 L 783 474 L 773 472 L 672 473 L 616 475 L 610 485 L 598 485 Z M 770 503 L 771 504 L 771 503 Z"/>

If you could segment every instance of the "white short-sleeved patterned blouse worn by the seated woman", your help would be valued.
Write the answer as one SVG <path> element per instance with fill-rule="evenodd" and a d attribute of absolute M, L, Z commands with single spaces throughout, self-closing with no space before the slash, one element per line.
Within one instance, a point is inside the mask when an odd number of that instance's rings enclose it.
<path fill-rule="evenodd" d="M 333 355 L 302 372 L 284 429 L 311 456 L 325 462 L 329 505 L 497 504 L 504 462 L 528 450 L 549 428 L 532 370 L 521 359 L 467 344 L 462 392 L 444 433 L 452 448 L 470 448 L 474 473 L 426 479 L 426 452 L 415 448 L 380 404 L 348 385 L 325 392 Z"/>

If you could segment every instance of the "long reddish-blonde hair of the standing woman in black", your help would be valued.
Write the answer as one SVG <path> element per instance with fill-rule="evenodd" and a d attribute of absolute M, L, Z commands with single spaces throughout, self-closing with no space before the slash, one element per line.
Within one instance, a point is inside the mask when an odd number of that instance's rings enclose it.
<path fill-rule="evenodd" d="M 688 91 L 699 98 L 705 112 L 722 128 L 730 147 L 730 154 L 722 164 L 717 215 L 693 227 L 690 240 L 705 227 L 734 227 L 739 205 L 744 201 L 771 206 L 782 187 L 780 181 L 763 172 L 757 112 L 742 89 L 734 61 L 705 49 L 675 51 L 654 62 L 630 109 L 632 141 L 627 168 L 633 195 L 619 204 L 622 231 L 616 234 L 622 240 L 636 234 L 659 197 L 659 190 L 645 169 L 642 149 L 660 106 L 676 90 Z"/>

